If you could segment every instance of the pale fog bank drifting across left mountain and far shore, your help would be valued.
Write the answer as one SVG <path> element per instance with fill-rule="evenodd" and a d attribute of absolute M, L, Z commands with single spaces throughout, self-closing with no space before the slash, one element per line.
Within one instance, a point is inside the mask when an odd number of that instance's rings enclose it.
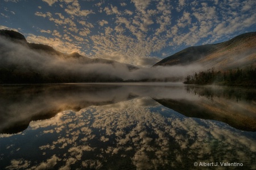
<path fill-rule="evenodd" d="M 0 67 L 11 72 L 40 73 L 47 76 L 77 77 L 104 76 L 105 78 L 122 78 L 122 80 L 145 80 L 162 78 L 182 79 L 187 74 L 202 69 L 200 65 L 172 66 L 172 67 L 151 67 L 130 70 L 126 64 L 113 62 L 90 63 L 88 59 L 63 58 L 44 51 L 35 51 L 26 46 L 11 42 L 5 38 L 0 39 Z M 181 80 L 182 81 L 182 80 Z"/>

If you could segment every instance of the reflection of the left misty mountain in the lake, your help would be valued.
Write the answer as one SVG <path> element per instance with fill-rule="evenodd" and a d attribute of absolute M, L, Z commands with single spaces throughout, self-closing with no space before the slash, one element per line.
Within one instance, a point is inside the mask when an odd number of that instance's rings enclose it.
<path fill-rule="evenodd" d="M 119 87 L 100 84 L 0 86 L 0 132 L 20 132 L 30 121 L 51 118 L 60 111 L 79 111 L 91 105 L 106 105 L 129 98 L 126 96 L 129 94 L 121 93 Z"/>

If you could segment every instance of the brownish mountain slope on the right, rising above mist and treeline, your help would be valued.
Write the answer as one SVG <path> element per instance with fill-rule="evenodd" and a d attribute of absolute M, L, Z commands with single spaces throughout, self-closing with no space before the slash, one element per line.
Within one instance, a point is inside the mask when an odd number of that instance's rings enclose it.
<path fill-rule="evenodd" d="M 225 70 L 256 65 L 256 32 L 241 34 L 218 44 L 188 47 L 156 63 L 156 65 L 201 64 L 205 68 Z"/>

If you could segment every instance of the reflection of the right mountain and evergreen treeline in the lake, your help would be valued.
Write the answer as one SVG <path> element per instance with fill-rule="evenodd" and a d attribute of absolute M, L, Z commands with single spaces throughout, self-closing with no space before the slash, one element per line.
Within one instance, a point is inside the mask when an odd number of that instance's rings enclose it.
<path fill-rule="evenodd" d="M 256 90 L 224 86 L 185 86 L 187 96 L 155 99 L 163 106 L 187 116 L 228 123 L 245 131 L 256 131 Z M 197 96 L 192 99 L 191 96 Z"/>

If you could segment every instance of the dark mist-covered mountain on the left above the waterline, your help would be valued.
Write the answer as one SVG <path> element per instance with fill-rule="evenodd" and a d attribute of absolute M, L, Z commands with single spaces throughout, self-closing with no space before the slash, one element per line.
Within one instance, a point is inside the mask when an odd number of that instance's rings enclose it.
<path fill-rule="evenodd" d="M 137 67 L 113 60 L 62 53 L 44 44 L 28 43 L 16 31 L 0 30 L 0 84 L 55 82 L 120 82 L 122 72 Z"/>

